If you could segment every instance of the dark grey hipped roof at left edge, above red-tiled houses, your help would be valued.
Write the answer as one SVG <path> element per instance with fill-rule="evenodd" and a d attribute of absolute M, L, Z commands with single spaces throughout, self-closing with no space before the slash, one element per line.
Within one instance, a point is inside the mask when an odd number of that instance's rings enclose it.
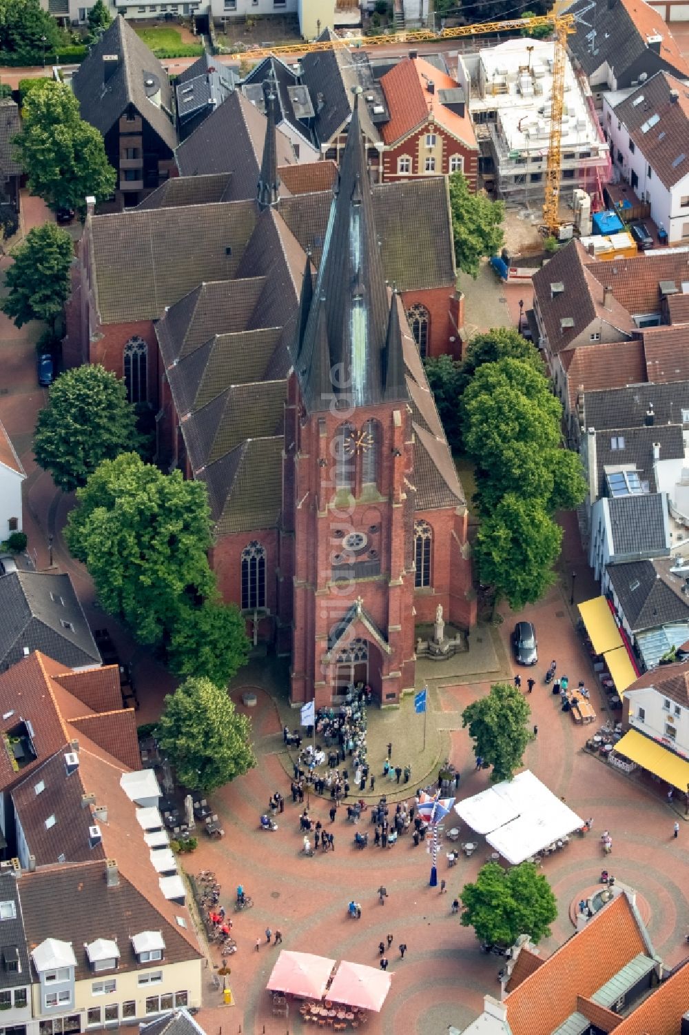
<path fill-rule="evenodd" d="M 68 574 L 14 571 L 0 578 L 0 671 L 20 661 L 24 648 L 70 669 L 101 663 Z"/>

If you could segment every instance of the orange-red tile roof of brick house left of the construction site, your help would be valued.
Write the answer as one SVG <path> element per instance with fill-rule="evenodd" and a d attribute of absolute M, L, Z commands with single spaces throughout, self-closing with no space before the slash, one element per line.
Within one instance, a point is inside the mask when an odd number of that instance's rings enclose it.
<path fill-rule="evenodd" d="M 433 93 L 428 92 L 427 80 L 436 84 Z M 423 58 L 405 58 L 381 79 L 390 112 L 390 121 L 381 127 L 386 144 L 394 144 L 408 134 L 420 128 L 430 116 L 438 125 L 460 140 L 468 147 L 478 149 L 474 126 L 468 114 L 457 115 L 442 105 L 439 90 L 455 90 L 458 84 L 442 72 L 436 65 Z"/>

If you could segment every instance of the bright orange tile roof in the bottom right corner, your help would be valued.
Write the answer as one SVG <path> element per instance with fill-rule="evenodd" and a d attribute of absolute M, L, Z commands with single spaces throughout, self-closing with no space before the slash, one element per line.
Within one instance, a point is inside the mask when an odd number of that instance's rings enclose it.
<path fill-rule="evenodd" d="M 650 945 L 626 894 L 604 907 L 504 1000 L 512 1035 L 550 1035 Z"/>

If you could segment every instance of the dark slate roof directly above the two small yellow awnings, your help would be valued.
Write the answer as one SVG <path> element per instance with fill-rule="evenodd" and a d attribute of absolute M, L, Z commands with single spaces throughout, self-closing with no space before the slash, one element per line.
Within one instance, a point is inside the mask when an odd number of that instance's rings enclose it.
<path fill-rule="evenodd" d="M 607 565 L 610 585 L 632 632 L 689 621 L 689 598 L 682 593 L 684 580 L 665 568 L 664 560 Z"/>

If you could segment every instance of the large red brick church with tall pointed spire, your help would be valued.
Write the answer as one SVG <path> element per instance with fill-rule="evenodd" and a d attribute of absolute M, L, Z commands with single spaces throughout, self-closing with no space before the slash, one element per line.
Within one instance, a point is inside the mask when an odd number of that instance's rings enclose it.
<path fill-rule="evenodd" d="M 151 404 L 163 468 L 206 482 L 218 585 L 291 658 L 292 701 L 362 679 L 394 704 L 415 627 L 438 604 L 475 621 L 466 500 L 405 299 L 453 264 L 446 184 L 371 188 L 355 106 L 327 203 L 286 197 L 271 132 L 250 203 L 181 178 L 89 216 L 81 348 Z"/>

